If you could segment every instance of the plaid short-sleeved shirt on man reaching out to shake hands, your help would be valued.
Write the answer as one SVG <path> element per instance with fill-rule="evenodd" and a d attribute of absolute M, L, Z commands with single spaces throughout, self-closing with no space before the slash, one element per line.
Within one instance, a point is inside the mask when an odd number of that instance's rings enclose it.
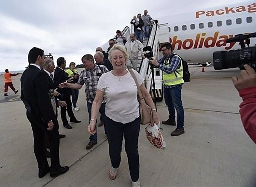
<path fill-rule="evenodd" d="M 81 85 L 85 84 L 85 94 L 87 102 L 93 103 L 93 100 L 96 96 L 99 77 L 101 77 L 101 75 L 106 72 L 108 72 L 108 69 L 103 65 L 95 65 L 94 69 L 92 70 L 84 69 L 81 71 L 77 83 Z M 102 103 L 106 103 L 105 96 L 103 96 Z"/>

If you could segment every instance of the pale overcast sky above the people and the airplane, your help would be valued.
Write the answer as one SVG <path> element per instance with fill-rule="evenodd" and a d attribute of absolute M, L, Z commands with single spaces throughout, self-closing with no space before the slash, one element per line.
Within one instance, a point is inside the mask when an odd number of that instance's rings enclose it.
<path fill-rule="evenodd" d="M 157 3 L 156 3 L 157 2 Z M 39 47 L 56 60 L 81 64 L 84 54 L 106 43 L 116 30 L 130 26 L 134 15 L 147 9 L 157 18 L 193 10 L 209 10 L 210 1 L 170 0 L 2 0 L 0 6 L 0 72 L 23 70 L 27 54 Z M 233 0 L 232 3 L 243 2 Z M 253 2 L 253 1 L 251 1 Z M 230 4 L 215 0 L 214 6 Z M 179 19 L 175 18 L 174 19 Z M 171 20 L 170 20 L 171 21 Z"/>

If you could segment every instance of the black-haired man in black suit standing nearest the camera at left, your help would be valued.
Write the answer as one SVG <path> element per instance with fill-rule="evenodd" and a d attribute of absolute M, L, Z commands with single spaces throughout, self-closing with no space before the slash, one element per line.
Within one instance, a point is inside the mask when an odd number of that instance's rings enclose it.
<path fill-rule="evenodd" d="M 28 55 L 29 67 L 20 78 L 21 99 L 27 109 L 27 119 L 32 126 L 39 178 L 49 172 L 51 177 L 56 177 L 69 170 L 68 166 L 61 167 L 59 163 L 59 126 L 48 95 L 49 83 L 41 70 L 44 58 L 44 51 L 33 47 Z M 44 153 L 45 132 L 50 141 L 51 167 Z"/>

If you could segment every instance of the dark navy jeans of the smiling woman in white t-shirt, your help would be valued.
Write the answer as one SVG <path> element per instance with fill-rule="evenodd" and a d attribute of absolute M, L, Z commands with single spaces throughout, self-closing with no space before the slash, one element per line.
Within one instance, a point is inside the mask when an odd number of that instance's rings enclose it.
<path fill-rule="evenodd" d="M 140 134 L 140 117 L 129 123 L 119 123 L 106 116 L 108 129 L 109 157 L 114 168 L 118 168 L 121 162 L 123 138 L 125 140 L 125 152 L 128 157 L 129 171 L 132 181 L 136 182 L 140 174 L 140 162 L 138 151 L 138 138 Z"/>

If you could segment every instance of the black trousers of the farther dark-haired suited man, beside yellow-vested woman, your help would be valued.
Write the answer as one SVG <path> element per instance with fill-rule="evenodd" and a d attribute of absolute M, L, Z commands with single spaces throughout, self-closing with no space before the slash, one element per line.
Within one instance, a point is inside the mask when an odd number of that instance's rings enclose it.
<path fill-rule="evenodd" d="M 71 99 L 70 99 L 70 94 L 62 94 L 62 100 L 66 101 L 67 106 L 66 107 L 60 107 L 60 116 L 61 116 L 61 120 L 64 125 L 68 124 L 68 120 L 67 120 L 67 115 L 66 115 L 66 111 L 68 110 L 68 116 L 70 117 L 70 120 L 74 120 L 75 116 L 72 110 L 72 103 L 71 103 Z"/>

